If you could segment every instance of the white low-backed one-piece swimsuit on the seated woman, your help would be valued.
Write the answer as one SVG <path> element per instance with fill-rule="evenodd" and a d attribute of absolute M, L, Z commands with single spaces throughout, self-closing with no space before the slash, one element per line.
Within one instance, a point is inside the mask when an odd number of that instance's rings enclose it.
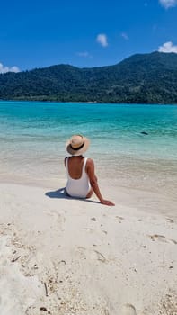
<path fill-rule="evenodd" d="M 74 179 L 69 175 L 68 159 L 69 157 L 66 158 L 66 175 L 67 175 L 66 193 L 68 193 L 71 197 L 85 198 L 91 190 L 89 177 L 85 172 L 87 158 L 84 157 L 82 175 L 78 179 Z"/>

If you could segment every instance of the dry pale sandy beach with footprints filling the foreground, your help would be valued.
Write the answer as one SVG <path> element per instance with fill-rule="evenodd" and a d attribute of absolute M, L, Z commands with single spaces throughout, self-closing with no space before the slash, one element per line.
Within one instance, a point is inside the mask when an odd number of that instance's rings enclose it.
<path fill-rule="evenodd" d="M 0 314 L 177 314 L 176 214 L 103 192 L 0 184 Z"/>

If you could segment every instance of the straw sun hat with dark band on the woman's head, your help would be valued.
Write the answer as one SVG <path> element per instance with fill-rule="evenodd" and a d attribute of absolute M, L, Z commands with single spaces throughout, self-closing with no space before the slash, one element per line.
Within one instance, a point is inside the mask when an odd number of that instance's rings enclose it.
<path fill-rule="evenodd" d="M 80 134 L 75 134 L 66 142 L 66 150 L 72 156 L 80 156 L 86 152 L 90 140 Z"/>

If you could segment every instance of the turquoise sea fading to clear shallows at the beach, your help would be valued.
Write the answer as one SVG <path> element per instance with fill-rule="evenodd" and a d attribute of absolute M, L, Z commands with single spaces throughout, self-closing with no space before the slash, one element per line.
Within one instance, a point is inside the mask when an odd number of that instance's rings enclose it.
<path fill-rule="evenodd" d="M 176 105 L 1 101 L 0 181 L 64 183 L 65 144 L 75 133 L 91 139 L 87 156 L 105 184 L 175 198 Z"/>

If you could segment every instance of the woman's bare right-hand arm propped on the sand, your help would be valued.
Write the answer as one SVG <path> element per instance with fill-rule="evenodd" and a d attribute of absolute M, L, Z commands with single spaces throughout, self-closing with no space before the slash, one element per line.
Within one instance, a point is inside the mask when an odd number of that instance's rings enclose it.
<path fill-rule="evenodd" d="M 114 203 L 112 203 L 111 201 L 109 200 L 105 200 L 103 197 L 102 197 L 102 193 L 100 191 L 100 188 L 99 188 L 99 185 L 98 185 L 98 182 L 97 182 L 97 177 L 94 173 L 94 163 L 93 163 L 93 159 L 91 158 L 88 158 L 87 160 L 87 163 L 86 163 L 86 173 L 87 175 L 89 176 L 89 180 L 90 180 L 90 183 L 91 183 L 91 186 L 93 188 L 93 192 L 96 194 L 97 198 L 100 200 L 100 202 L 102 204 L 105 204 L 105 205 L 115 205 Z"/>

